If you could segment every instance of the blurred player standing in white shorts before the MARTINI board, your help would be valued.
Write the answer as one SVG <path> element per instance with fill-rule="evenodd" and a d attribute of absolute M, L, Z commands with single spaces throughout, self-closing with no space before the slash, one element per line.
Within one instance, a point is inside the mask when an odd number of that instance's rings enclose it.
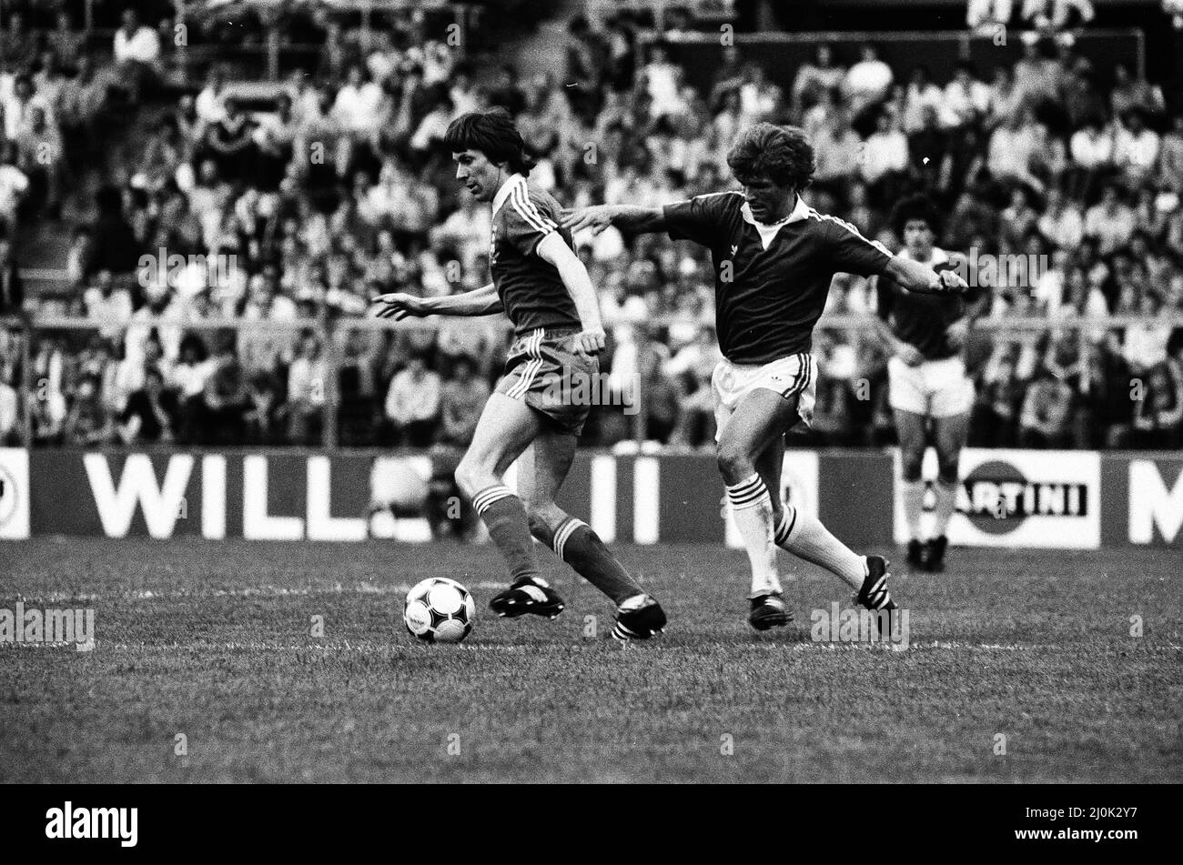
<path fill-rule="evenodd" d="M 892 229 L 904 242 L 899 256 L 946 269 L 955 259 L 935 246 L 940 214 L 916 195 L 892 212 Z M 984 312 L 989 292 L 948 297 L 912 294 L 880 280 L 875 332 L 891 352 L 888 403 L 899 435 L 900 490 L 907 526 L 907 564 L 925 571 L 944 567 L 945 531 L 957 507 L 958 463 L 969 434 L 974 383 L 965 375 L 962 346 L 972 320 Z M 929 442 L 937 451 L 932 536 L 922 539 L 924 481 L 920 467 Z"/>

